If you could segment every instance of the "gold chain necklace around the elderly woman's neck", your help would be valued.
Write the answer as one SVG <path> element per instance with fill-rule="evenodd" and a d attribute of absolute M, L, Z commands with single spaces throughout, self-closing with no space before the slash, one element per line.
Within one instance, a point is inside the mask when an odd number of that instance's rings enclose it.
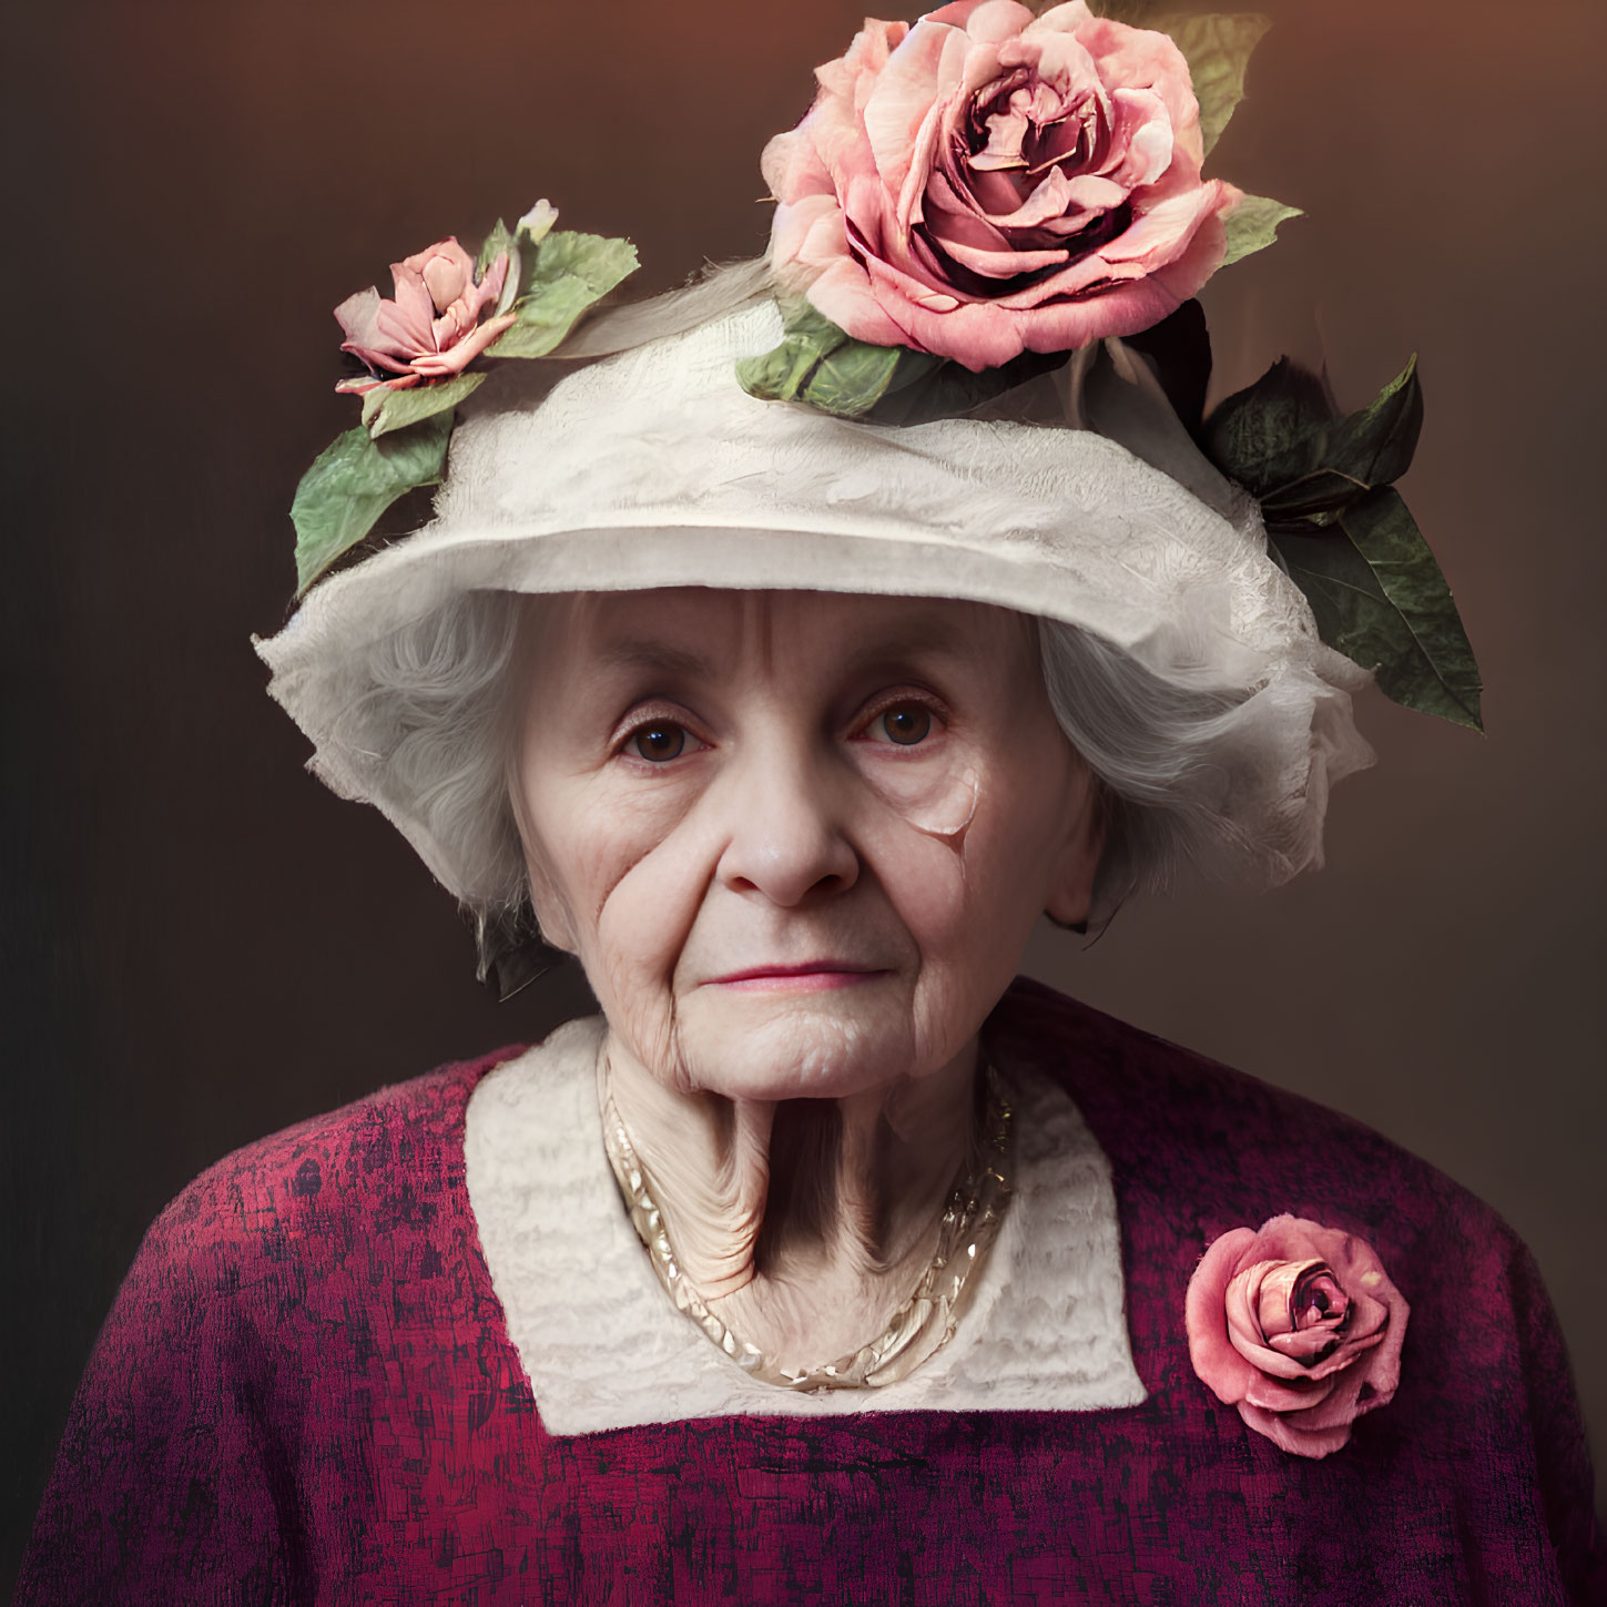
<path fill-rule="evenodd" d="M 1011 1107 L 1003 1080 L 992 1065 L 985 1077 L 982 1157 L 974 1168 L 956 1178 L 948 1194 L 937 1250 L 914 1294 L 868 1345 L 815 1368 L 783 1366 L 757 1345 L 739 1339 L 688 1282 L 670 1245 L 664 1213 L 652 1199 L 646 1168 L 614 1106 L 612 1091 L 604 1093 L 603 1146 L 632 1225 L 646 1245 L 648 1260 L 665 1294 L 749 1377 L 789 1390 L 879 1388 L 908 1377 L 927 1356 L 948 1343 L 959 1321 L 961 1294 L 998 1237 L 1011 1192 L 1006 1176 Z"/>

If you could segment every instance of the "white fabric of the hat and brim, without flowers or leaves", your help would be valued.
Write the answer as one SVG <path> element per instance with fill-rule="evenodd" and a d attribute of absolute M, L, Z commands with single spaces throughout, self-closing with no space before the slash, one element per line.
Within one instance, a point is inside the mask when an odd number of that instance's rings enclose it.
<path fill-rule="evenodd" d="M 884 426 L 757 400 L 734 365 L 781 333 L 775 302 L 749 296 L 537 402 L 464 418 L 432 522 L 321 582 L 259 643 L 315 773 L 374 804 L 448 890 L 484 905 L 503 893 L 479 850 L 429 807 L 450 778 L 416 752 L 397 762 L 407 693 L 374 673 L 374 643 L 427 633 L 466 593 L 964 598 L 1077 627 L 1216 696 L 1212 807 L 1229 857 L 1273 879 L 1319 860 L 1329 784 L 1371 760 L 1348 696 L 1366 675 L 1319 641 L 1249 497 L 1157 431 L 1115 432 L 1172 472 L 1088 427 Z M 463 762 L 461 747 L 439 752 L 434 770 Z"/>

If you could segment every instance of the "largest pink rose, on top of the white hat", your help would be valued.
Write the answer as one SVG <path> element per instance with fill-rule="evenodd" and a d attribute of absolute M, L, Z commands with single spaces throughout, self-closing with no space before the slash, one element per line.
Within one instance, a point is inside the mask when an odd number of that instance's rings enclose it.
<path fill-rule="evenodd" d="M 765 148 L 779 281 L 874 346 L 967 368 L 1160 323 L 1221 265 L 1241 191 L 1204 182 L 1165 35 L 1083 0 L 868 21 Z"/>

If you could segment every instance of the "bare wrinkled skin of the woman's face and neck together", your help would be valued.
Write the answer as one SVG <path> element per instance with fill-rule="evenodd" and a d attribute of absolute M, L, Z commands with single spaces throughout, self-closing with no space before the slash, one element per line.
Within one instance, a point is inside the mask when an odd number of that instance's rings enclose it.
<path fill-rule="evenodd" d="M 680 1260 L 744 1339 L 842 1355 L 930 1257 L 1033 922 L 1088 910 L 1091 784 L 1035 630 L 942 599 L 564 596 L 529 604 L 521 669 L 537 914 L 607 1017 Z"/>

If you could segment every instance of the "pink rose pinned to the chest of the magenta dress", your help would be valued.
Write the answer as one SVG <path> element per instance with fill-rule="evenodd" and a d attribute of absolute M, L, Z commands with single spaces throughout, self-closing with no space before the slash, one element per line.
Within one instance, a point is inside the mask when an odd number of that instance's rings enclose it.
<path fill-rule="evenodd" d="M 1327 1456 L 1395 1395 L 1409 1315 L 1371 1245 L 1274 1216 L 1205 1252 L 1184 1321 L 1194 1371 L 1220 1400 L 1282 1450 Z"/>

